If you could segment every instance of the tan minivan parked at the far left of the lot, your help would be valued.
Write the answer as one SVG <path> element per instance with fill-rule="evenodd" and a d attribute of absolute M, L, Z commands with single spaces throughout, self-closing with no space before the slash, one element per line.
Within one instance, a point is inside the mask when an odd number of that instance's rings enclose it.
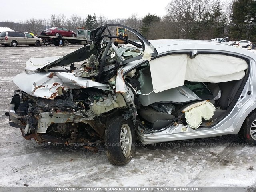
<path fill-rule="evenodd" d="M 0 33 L 0 44 L 8 47 L 18 45 L 40 46 L 42 39 L 35 37 L 27 32 L 4 31 Z"/>

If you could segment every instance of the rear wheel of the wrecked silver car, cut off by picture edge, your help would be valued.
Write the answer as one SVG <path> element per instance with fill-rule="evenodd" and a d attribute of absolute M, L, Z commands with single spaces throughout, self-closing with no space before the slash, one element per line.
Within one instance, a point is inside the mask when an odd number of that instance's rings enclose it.
<path fill-rule="evenodd" d="M 246 117 L 238 136 L 247 144 L 256 145 L 256 111 Z"/>

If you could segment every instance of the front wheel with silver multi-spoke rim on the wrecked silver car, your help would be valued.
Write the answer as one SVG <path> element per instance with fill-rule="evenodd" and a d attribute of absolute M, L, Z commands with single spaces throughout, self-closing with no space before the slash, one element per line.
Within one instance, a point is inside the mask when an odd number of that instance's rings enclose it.
<path fill-rule="evenodd" d="M 135 139 L 132 120 L 125 120 L 122 116 L 112 118 L 105 130 L 105 147 L 110 163 L 124 165 L 130 162 L 135 152 Z"/>

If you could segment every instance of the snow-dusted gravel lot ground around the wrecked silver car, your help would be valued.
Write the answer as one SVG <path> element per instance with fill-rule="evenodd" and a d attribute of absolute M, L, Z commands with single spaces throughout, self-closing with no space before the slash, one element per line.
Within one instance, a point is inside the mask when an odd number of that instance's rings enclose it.
<path fill-rule="evenodd" d="M 4 112 L 17 86 L 12 78 L 32 57 L 59 56 L 81 46 L 0 46 L 0 186 L 256 186 L 256 147 L 236 135 L 144 146 L 124 166 L 100 148 L 60 148 L 25 140 Z M 246 188 L 244 188 L 246 190 Z"/>

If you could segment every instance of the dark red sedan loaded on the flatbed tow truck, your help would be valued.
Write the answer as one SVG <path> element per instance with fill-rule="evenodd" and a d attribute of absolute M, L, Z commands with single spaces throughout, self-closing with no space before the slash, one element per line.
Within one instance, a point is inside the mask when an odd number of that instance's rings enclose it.
<path fill-rule="evenodd" d="M 50 29 L 42 31 L 40 35 L 59 36 L 59 34 L 66 37 L 76 37 L 76 32 L 68 30 L 64 27 L 51 27 Z"/>

